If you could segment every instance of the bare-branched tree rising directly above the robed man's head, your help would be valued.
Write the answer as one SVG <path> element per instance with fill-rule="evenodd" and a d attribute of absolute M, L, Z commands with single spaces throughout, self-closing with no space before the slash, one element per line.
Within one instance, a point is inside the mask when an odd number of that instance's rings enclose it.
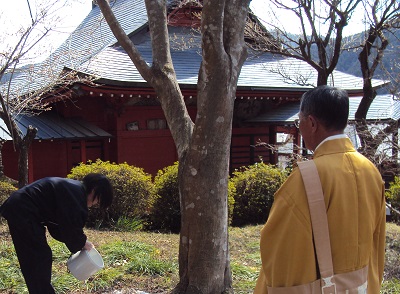
<path fill-rule="evenodd" d="M 361 0 L 271 0 L 269 19 L 264 19 L 271 34 L 281 42 L 282 47 L 271 46 L 274 38 L 264 37 L 263 30 L 249 30 L 246 33 L 258 40 L 255 49 L 293 57 L 307 62 L 318 73 L 317 86 L 326 85 L 328 77 L 338 64 L 343 48 L 343 30 L 348 25 Z M 298 35 L 285 29 L 285 23 L 278 17 L 278 11 L 285 10 L 293 15 L 290 21 L 299 21 Z M 285 17 L 285 22 L 290 17 Z"/>

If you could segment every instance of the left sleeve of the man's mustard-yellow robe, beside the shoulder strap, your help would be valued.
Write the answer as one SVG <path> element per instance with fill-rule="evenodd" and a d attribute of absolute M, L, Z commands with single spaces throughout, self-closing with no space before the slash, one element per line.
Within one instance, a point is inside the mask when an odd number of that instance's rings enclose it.
<path fill-rule="evenodd" d="M 308 203 L 300 177 L 296 169 L 275 194 L 261 230 L 262 269 L 254 293 L 267 293 L 266 286 L 289 287 L 317 278 Z"/>

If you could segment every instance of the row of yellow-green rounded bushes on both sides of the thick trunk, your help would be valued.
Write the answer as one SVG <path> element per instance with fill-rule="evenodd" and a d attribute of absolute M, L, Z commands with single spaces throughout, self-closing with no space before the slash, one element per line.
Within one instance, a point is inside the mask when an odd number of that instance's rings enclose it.
<path fill-rule="evenodd" d="M 81 180 L 88 173 L 101 173 L 113 185 L 114 201 L 107 214 L 103 215 L 96 207 L 90 208 L 88 226 L 123 225 L 178 233 L 181 228 L 178 168 L 179 163 L 175 162 L 159 170 L 152 181 L 151 175 L 141 168 L 97 160 L 80 164 L 67 177 Z M 286 177 L 287 172 L 264 163 L 235 171 L 228 182 L 229 225 L 264 223 L 274 194 Z"/>

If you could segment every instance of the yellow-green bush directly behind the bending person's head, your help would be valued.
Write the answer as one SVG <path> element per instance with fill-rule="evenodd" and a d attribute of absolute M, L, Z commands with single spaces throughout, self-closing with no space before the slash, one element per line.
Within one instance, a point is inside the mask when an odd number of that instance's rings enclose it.
<path fill-rule="evenodd" d="M 82 180 L 89 173 L 101 173 L 108 177 L 113 186 L 114 200 L 106 216 L 102 215 L 98 207 L 90 208 L 88 226 L 112 226 L 121 217 L 136 221 L 146 219 L 154 198 L 151 175 L 127 163 L 115 164 L 97 160 L 81 163 L 67 177 Z"/>

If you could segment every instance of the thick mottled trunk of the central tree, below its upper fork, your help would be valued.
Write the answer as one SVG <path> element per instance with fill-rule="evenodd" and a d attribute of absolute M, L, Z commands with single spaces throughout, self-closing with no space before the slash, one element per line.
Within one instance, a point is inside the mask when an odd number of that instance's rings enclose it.
<path fill-rule="evenodd" d="M 220 72 L 220 78 L 199 93 L 198 99 L 208 102 L 198 110 L 182 162 L 179 288 L 186 289 L 179 293 L 222 293 L 231 288 L 227 185 L 235 87 L 228 86 L 228 80 L 229 73 Z"/>

